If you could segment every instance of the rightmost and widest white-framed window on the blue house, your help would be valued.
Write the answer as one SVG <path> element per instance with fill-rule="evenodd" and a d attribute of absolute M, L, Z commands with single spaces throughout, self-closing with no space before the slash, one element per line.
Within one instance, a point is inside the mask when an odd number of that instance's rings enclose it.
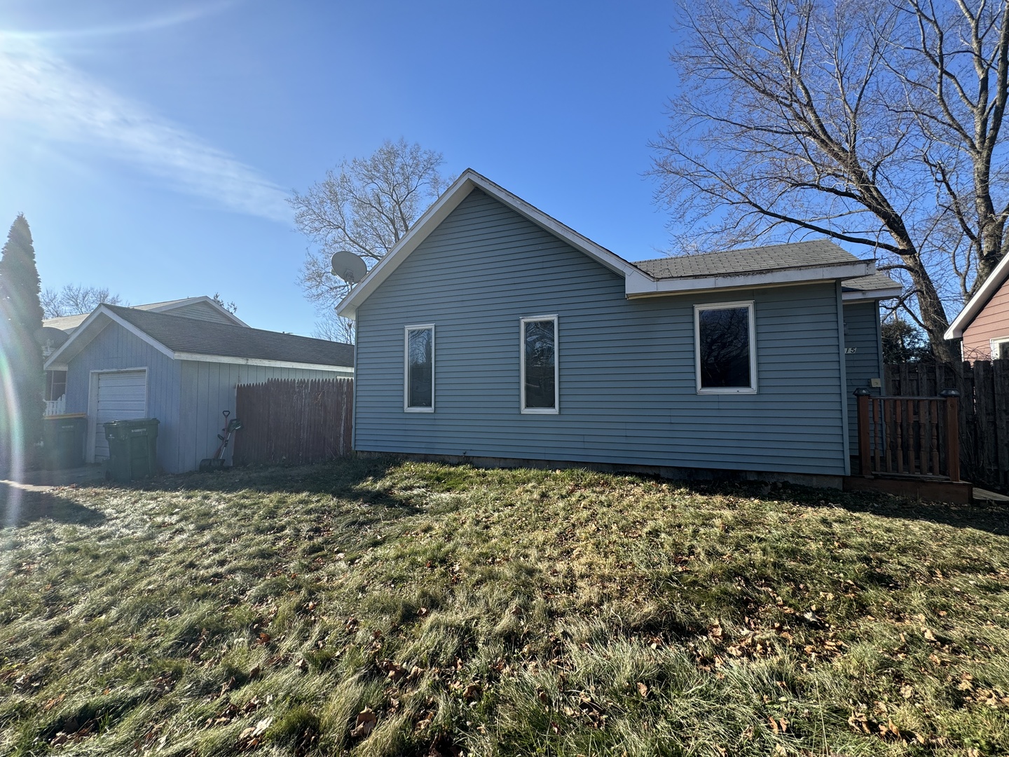
<path fill-rule="evenodd" d="M 694 344 L 698 393 L 757 391 L 752 302 L 695 305 Z"/>

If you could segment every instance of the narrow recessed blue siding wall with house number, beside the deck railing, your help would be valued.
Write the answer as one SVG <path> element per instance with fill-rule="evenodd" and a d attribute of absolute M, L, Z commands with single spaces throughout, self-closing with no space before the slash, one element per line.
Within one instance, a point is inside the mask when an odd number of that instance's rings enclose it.
<path fill-rule="evenodd" d="M 859 404 L 855 390 L 868 389 L 874 397 L 883 390 L 873 388 L 872 379 L 883 382 L 883 340 L 880 332 L 880 307 L 875 300 L 860 300 L 845 304 L 845 348 L 855 352 L 845 354 L 848 377 L 848 438 L 851 453 L 859 453 Z"/>

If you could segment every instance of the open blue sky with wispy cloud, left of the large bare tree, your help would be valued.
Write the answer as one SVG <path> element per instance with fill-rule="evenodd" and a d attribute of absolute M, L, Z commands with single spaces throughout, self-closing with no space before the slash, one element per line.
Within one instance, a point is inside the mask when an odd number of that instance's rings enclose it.
<path fill-rule="evenodd" d="M 285 198 L 400 136 L 629 259 L 675 78 L 668 2 L 0 0 L 0 223 L 43 287 L 220 292 L 311 334 Z"/>

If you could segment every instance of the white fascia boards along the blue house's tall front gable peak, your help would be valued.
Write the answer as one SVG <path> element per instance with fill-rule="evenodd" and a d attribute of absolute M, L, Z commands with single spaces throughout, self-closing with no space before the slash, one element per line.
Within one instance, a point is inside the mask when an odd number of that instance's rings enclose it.
<path fill-rule="evenodd" d="M 560 239 L 563 239 L 575 249 L 584 252 L 589 257 L 597 260 L 611 271 L 623 274 L 625 277 L 638 276 L 648 281 L 651 277 L 644 274 L 639 268 L 625 260 L 618 254 L 610 252 L 605 247 L 601 247 L 592 240 L 582 236 L 577 231 L 565 226 L 560 221 L 551 218 L 546 213 L 536 208 L 525 200 L 513 195 L 508 190 L 498 187 L 489 179 L 480 176 L 472 169 L 466 169 L 458 179 L 449 187 L 438 200 L 435 201 L 422 215 L 414 227 L 407 233 L 400 243 L 389 250 L 378 263 L 368 272 L 360 284 L 354 287 L 343 301 L 336 307 L 336 314 L 344 318 L 353 319 L 357 312 L 357 307 L 364 302 L 378 286 L 384 282 L 389 275 L 399 267 L 411 252 L 423 242 L 428 235 L 434 231 L 438 225 L 448 217 L 449 213 L 455 210 L 459 204 L 469 196 L 474 189 L 485 192 L 490 197 L 501 204 L 525 216 L 540 228 L 548 231 Z"/>

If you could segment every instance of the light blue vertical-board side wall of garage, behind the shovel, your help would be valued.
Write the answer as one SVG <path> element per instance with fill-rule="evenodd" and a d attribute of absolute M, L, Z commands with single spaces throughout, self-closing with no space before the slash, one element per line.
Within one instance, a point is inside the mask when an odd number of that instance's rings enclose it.
<path fill-rule="evenodd" d="M 244 365 L 230 362 L 180 360 L 183 402 L 177 428 L 180 438 L 178 471 L 196 470 L 200 460 L 213 457 L 221 443 L 217 435 L 224 426 L 222 412 L 235 417 L 235 392 L 239 384 L 261 384 L 269 379 L 333 379 L 329 370 Z M 242 433 L 236 431 L 236 434 Z M 231 464 L 232 444 L 224 459 Z M 177 471 L 170 471 L 177 472 Z"/>

